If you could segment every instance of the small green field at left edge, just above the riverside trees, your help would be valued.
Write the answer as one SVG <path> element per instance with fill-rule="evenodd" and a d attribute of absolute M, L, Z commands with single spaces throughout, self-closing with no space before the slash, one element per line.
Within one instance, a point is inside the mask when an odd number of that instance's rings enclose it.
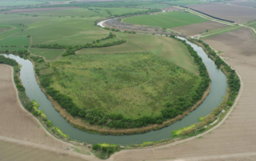
<path fill-rule="evenodd" d="M 0 40 L 0 46 L 2 45 L 30 46 L 30 37 L 6 37 Z"/>

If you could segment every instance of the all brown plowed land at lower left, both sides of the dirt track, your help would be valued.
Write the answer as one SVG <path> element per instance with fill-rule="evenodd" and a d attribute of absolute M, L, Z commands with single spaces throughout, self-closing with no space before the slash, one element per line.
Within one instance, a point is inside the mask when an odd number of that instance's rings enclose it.
<path fill-rule="evenodd" d="M 13 68 L 0 65 L 0 160 L 62 160 L 63 153 L 80 156 L 67 151 L 67 147 L 74 146 L 50 135 L 22 107 L 13 81 Z M 93 155 L 80 157 L 94 159 Z"/>

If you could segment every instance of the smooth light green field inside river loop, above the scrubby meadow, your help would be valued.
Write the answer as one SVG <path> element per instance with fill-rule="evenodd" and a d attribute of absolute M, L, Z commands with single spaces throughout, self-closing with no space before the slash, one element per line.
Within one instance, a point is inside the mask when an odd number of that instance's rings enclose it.
<path fill-rule="evenodd" d="M 186 47 L 179 41 L 175 41 L 170 37 L 153 35 L 131 33 L 114 34 L 128 42 L 122 45 L 100 49 L 82 49 L 78 51 L 78 54 L 149 52 L 163 57 L 167 61 L 181 66 L 192 73 L 198 74 L 198 67 L 194 65 L 193 58 L 190 56 Z"/>

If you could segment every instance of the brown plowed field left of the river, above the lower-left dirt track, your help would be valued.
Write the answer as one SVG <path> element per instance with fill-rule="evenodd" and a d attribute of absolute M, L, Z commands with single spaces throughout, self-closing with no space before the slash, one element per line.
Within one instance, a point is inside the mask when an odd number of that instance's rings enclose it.
<path fill-rule="evenodd" d="M 0 136 L 60 149 L 70 146 L 69 143 L 52 138 L 33 119 L 34 116 L 23 109 L 18 101 L 12 67 L 0 65 L 0 75 Z"/>

